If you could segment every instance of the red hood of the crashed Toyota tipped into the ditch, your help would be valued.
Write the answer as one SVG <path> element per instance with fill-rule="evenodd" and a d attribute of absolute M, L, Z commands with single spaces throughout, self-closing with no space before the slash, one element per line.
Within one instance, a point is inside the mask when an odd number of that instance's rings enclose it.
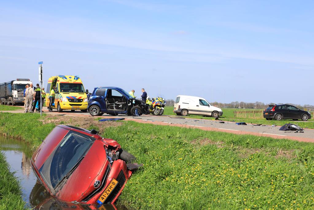
<path fill-rule="evenodd" d="M 85 158 L 69 178 L 56 188 L 56 197 L 64 201 L 81 201 L 96 188 L 96 180 L 102 180 L 109 161 L 104 143 L 96 140 Z"/>

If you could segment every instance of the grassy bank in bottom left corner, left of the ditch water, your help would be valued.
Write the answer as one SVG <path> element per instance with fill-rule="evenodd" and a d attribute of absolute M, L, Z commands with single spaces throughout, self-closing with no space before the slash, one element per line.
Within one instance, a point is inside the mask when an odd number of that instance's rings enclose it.
<path fill-rule="evenodd" d="M 21 186 L 9 167 L 4 154 L 0 152 L 0 209 L 24 209 Z"/>

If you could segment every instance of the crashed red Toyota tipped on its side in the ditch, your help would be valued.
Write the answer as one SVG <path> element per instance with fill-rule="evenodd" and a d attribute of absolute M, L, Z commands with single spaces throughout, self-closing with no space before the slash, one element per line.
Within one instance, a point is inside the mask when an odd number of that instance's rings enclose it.
<path fill-rule="evenodd" d="M 51 196 L 66 202 L 114 203 L 137 164 L 135 157 L 96 130 L 58 125 L 31 159 L 38 180 Z"/>

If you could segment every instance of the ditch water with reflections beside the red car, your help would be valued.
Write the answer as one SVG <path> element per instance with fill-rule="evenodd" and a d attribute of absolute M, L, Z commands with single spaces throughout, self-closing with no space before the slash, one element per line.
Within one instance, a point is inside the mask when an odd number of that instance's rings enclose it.
<path fill-rule="evenodd" d="M 27 144 L 23 141 L 0 136 L 0 148 L 6 156 L 6 161 L 11 166 L 10 171 L 15 172 L 15 177 L 20 180 L 23 193 L 22 198 L 26 202 L 26 208 L 123 210 L 122 207 L 116 205 L 97 208 L 58 201 L 51 197 L 45 191 L 45 187 L 37 181 L 30 163 L 32 153 Z"/>

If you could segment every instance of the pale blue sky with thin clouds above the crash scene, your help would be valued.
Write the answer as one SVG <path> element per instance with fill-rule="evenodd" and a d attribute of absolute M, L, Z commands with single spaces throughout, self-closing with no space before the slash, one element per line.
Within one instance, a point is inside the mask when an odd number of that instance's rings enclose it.
<path fill-rule="evenodd" d="M 314 104 L 313 25 L 313 1 L 1 1 L 1 82 Z"/>

